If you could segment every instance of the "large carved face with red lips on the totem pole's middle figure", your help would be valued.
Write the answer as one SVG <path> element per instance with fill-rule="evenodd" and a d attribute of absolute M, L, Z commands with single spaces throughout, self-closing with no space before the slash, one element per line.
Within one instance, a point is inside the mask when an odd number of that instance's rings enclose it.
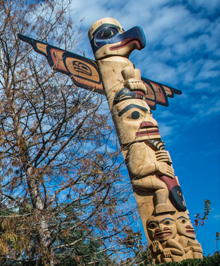
<path fill-rule="evenodd" d="M 119 102 L 112 108 L 120 144 L 133 141 L 158 139 L 160 134 L 157 122 L 147 103 L 140 99 Z"/>

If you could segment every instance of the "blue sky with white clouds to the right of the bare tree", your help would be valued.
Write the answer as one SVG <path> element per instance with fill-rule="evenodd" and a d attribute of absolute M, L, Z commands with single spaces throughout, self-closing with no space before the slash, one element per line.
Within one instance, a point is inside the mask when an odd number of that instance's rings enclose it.
<path fill-rule="evenodd" d="M 205 254 L 216 251 L 220 231 L 220 3 L 219 0 L 73 0 L 83 19 L 77 49 L 93 59 L 90 25 L 117 19 L 125 30 L 141 26 L 147 45 L 130 60 L 145 78 L 182 90 L 169 107 L 153 112 L 173 160 L 191 220 L 212 202 L 209 220 L 197 231 Z M 72 52 L 76 52 L 72 51 Z"/>

